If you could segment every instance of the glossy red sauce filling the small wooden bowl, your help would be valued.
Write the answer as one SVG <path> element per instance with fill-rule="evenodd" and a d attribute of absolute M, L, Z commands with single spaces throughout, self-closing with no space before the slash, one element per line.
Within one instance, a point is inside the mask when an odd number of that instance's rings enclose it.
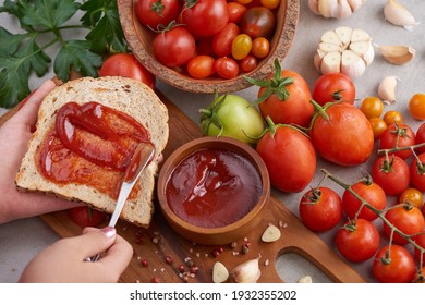
<path fill-rule="evenodd" d="M 183 159 L 167 184 L 171 210 L 184 221 L 219 228 L 247 215 L 262 192 L 262 178 L 243 156 L 205 148 Z"/>

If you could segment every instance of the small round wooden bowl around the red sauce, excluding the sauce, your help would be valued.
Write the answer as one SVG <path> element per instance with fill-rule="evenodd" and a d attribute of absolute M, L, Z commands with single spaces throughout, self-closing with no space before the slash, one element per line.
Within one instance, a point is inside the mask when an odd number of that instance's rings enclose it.
<path fill-rule="evenodd" d="M 246 213 L 241 219 L 236 220 L 235 222 L 232 222 L 230 224 L 223 225 L 223 227 L 217 227 L 217 228 L 205 228 L 205 227 L 198 227 L 194 225 L 190 222 L 184 221 L 180 217 L 178 217 L 169 207 L 167 196 L 166 196 L 166 188 L 168 184 L 168 179 L 170 178 L 173 167 L 172 164 L 177 162 L 178 164 L 189 155 L 191 155 L 194 151 L 197 151 L 198 149 L 203 148 L 210 148 L 215 147 L 215 144 L 226 144 L 229 145 L 229 147 L 236 148 L 236 154 L 240 154 L 240 151 L 244 151 L 243 157 L 247 158 L 250 162 L 252 162 L 258 170 L 258 173 L 262 179 L 262 192 L 259 195 L 259 198 L 255 206 L 250 210 L 248 213 Z M 220 147 L 221 148 L 221 147 Z M 224 148 L 226 149 L 226 148 Z M 234 150 L 233 150 L 234 151 Z M 202 235 L 215 235 L 215 234 L 222 234 L 229 231 L 238 230 L 248 222 L 251 222 L 260 211 L 263 211 L 266 207 L 266 205 L 269 202 L 270 197 L 270 180 L 267 172 L 266 164 L 264 163 L 262 157 L 256 152 L 254 148 L 252 148 L 250 145 L 231 138 L 231 137 L 214 137 L 214 136 L 202 136 L 195 139 L 192 139 L 179 148 L 177 148 L 165 161 L 158 176 L 158 202 L 159 206 L 165 213 L 166 218 L 169 219 L 169 221 L 172 221 L 175 225 L 179 228 L 184 229 L 185 231 L 195 232 L 196 234 Z"/>

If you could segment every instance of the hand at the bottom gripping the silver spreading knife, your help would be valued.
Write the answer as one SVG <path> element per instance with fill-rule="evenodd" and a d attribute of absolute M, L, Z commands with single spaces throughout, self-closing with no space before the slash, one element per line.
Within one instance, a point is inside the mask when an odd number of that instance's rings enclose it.
<path fill-rule="evenodd" d="M 86 261 L 102 252 L 99 260 Z M 60 240 L 39 253 L 20 282 L 118 282 L 132 255 L 132 246 L 117 235 L 114 228 L 86 228 L 83 235 Z"/>

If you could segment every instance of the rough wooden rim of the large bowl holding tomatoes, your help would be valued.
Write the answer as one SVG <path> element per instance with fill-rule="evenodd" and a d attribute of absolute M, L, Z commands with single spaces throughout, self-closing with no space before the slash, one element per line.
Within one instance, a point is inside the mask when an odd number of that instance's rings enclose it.
<path fill-rule="evenodd" d="M 275 59 L 278 58 L 279 60 L 282 60 L 289 52 L 295 36 L 296 24 L 300 16 L 300 0 L 282 0 L 279 8 L 276 9 L 277 14 L 280 10 L 284 10 L 284 16 L 276 16 L 277 28 L 279 28 L 280 35 L 277 38 L 277 41 L 272 44 L 274 47 L 270 49 L 269 56 L 262 60 L 259 66 L 248 73 L 241 73 L 231 80 L 196 80 L 190 76 L 182 77 L 177 70 L 157 62 L 154 56 L 146 50 L 144 46 L 147 42 L 142 40 L 137 30 L 137 27 L 142 26 L 138 23 L 134 10 L 137 0 L 118 0 L 117 2 L 124 36 L 136 59 L 161 81 L 175 88 L 195 94 L 222 94 L 238 91 L 252 86 L 243 75 L 256 80 L 267 77 L 275 70 Z M 284 8 L 282 5 L 284 5 Z M 276 37 L 274 39 L 276 39 Z M 190 83 L 191 86 L 186 86 L 187 83 Z"/>

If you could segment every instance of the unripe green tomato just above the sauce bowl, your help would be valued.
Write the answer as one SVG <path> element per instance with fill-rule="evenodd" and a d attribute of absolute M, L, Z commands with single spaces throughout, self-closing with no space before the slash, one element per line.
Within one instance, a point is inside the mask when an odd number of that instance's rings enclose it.
<path fill-rule="evenodd" d="M 259 111 L 236 95 L 217 97 L 207 109 L 201 109 L 203 135 L 228 136 L 255 145 L 265 129 Z"/>

